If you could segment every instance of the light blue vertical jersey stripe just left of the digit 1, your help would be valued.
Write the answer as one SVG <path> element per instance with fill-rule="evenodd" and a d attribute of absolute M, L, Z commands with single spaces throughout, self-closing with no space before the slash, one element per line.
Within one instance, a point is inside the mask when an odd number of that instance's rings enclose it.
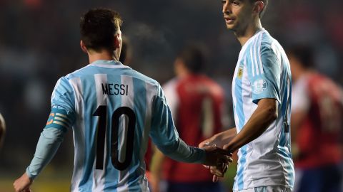
<path fill-rule="evenodd" d="M 93 178 L 91 177 L 93 174 L 93 164 L 95 159 L 95 144 L 96 139 L 95 133 L 96 130 L 96 121 L 95 118 L 91 116 L 94 112 L 91 110 L 96 110 L 96 92 L 94 92 L 95 87 L 95 80 L 94 75 L 89 76 L 81 76 L 81 87 L 83 92 L 84 98 L 84 137 L 85 137 L 85 155 L 84 155 L 84 176 L 81 178 L 80 182 L 80 189 L 82 190 L 89 190 L 93 186 Z"/>

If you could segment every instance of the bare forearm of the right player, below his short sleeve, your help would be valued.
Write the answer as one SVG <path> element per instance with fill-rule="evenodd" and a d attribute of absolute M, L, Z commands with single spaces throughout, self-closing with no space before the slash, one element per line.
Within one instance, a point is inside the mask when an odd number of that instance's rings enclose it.
<path fill-rule="evenodd" d="M 275 119 L 277 119 L 277 108 L 259 105 L 247 124 L 242 128 L 242 131 L 225 146 L 225 149 L 233 152 L 245 144 L 252 142 L 259 137 Z"/>

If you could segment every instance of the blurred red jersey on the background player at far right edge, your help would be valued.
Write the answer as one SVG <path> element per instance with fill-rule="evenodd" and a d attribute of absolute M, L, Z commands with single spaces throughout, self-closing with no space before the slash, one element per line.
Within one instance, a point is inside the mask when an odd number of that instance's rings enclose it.
<path fill-rule="evenodd" d="M 307 117 L 297 129 L 299 159 L 295 165 L 312 168 L 338 164 L 342 160 L 342 90 L 332 80 L 316 73 L 307 75 L 302 81 L 300 84 L 304 86 L 297 88 L 303 89 L 306 94 L 296 97 L 305 97 L 299 99 L 307 102 L 308 107 Z"/>

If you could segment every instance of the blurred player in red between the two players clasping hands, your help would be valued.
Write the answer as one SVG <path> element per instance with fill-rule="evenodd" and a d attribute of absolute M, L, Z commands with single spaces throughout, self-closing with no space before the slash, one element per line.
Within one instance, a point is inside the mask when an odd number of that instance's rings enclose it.
<path fill-rule="evenodd" d="M 174 62 L 177 78 L 162 87 L 180 137 L 192 146 L 223 127 L 224 91 L 202 74 L 204 60 L 199 48 L 187 46 Z M 221 183 L 212 182 L 212 174 L 204 166 L 164 158 L 160 151 L 154 153 L 151 173 L 156 180 L 154 191 L 158 191 L 161 178 L 170 192 L 223 191 Z"/>

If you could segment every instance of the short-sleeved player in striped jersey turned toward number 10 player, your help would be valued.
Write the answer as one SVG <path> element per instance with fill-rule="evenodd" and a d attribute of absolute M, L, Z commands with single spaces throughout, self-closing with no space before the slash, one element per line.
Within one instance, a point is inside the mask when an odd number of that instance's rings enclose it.
<path fill-rule="evenodd" d="M 291 71 L 282 46 L 261 25 L 268 1 L 223 0 L 222 4 L 225 24 L 242 45 L 232 81 L 236 129 L 199 146 L 238 149 L 234 191 L 292 191 Z M 217 176 L 224 171 L 212 169 Z"/>

